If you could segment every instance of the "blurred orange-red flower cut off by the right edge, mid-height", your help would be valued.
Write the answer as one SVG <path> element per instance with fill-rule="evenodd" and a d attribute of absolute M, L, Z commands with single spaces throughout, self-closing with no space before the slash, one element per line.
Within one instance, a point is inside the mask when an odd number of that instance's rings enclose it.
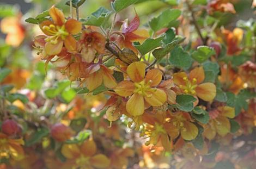
<path fill-rule="evenodd" d="M 239 66 L 239 75 L 243 82 L 247 83 L 248 87 L 256 87 L 256 64 L 252 61 L 247 61 Z"/>

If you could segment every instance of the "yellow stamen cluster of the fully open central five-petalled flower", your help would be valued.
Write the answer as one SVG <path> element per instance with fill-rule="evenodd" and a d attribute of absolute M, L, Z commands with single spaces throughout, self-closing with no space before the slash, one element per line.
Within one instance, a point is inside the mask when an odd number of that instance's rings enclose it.
<path fill-rule="evenodd" d="M 145 83 L 145 80 L 143 80 L 142 82 L 139 83 L 134 83 L 135 84 L 135 93 L 138 93 L 139 95 L 142 96 L 147 96 L 147 97 L 151 97 L 150 94 L 147 93 L 147 91 L 155 91 L 156 89 L 150 87 L 150 84 L 152 83 L 152 80 L 149 80 L 148 83 Z"/>

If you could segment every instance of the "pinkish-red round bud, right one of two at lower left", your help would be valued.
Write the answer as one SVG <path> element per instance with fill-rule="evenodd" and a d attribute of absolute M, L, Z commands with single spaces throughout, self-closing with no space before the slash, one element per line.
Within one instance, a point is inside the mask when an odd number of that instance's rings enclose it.
<path fill-rule="evenodd" d="M 71 135 L 72 130 L 62 123 L 54 124 L 51 128 L 51 136 L 53 137 L 53 139 L 59 142 L 63 142 L 70 139 Z"/>

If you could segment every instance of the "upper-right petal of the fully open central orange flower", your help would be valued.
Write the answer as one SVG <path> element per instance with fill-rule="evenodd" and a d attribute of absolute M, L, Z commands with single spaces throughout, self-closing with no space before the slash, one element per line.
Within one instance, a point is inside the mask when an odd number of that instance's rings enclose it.
<path fill-rule="evenodd" d="M 162 80 L 162 73 L 156 68 L 149 70 L 146 74 L 145 80 L 146 83 L 150 82 L 151 80 L 152 83 L 150 84 L 150 87 L 157 86 Z"/>

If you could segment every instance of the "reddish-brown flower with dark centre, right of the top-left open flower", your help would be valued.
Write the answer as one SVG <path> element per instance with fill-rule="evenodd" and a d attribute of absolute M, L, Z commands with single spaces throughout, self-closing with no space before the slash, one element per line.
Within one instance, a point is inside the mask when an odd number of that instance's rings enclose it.
<path fill-rule="evenodd" d="M 105 42 L 106 38 L 102 34 L 90 29 L 83 30 L 78 42 L 78 50 L 81 51 L 84 61 L 92 62 L 96 53 L 105 53 Z"/>

